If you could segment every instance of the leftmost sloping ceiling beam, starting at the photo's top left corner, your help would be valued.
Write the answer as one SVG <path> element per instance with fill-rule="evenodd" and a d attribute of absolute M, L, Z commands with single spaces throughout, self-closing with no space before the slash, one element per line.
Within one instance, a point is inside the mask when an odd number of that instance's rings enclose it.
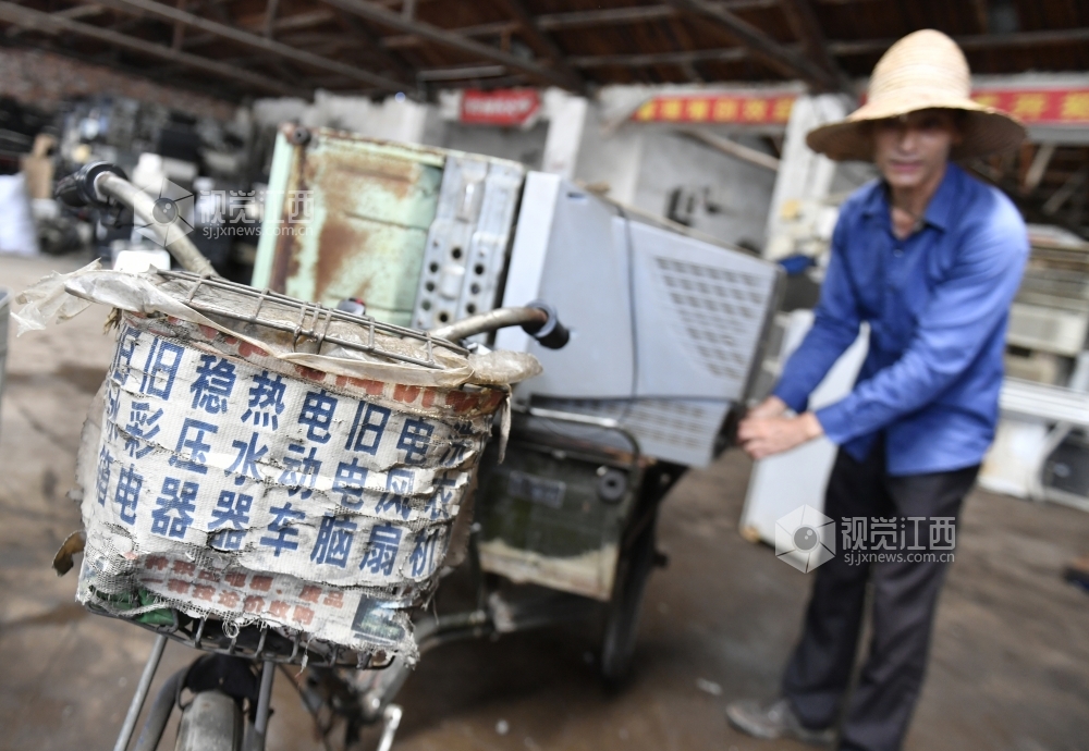
<path fill-rule="evenodd" d="M 151 58 L 167 60 L 179 65 L 184 65 L 191 70 L 204 71 L 205 73 L 211 73 L 223 78 L 237 81 L 261 91 L 270 91 L 286 96 L 298 96 L 299 94 L 303 94 L 294 86 L 290 86 L 283 82 L 269 78 L 258 73 L 240 70 L 216 60 L 209 60 L 208 58 L 201 58 L 189 52 L 174 50 L 163 45 L 157 45 L 145 39 L 137 39 L 125 34 L 112 32 L 108 28 L 100 28 L 98 26 L 85 24 L 72 19 L 58 17 L 50 13 L 42 13 L 41 11 L 36 11 L 13 2 L 8 2 L 8 0 L 0 0 L 0 21 L 15 24 L 16 26 L 27 30 L 41 32 L 45 34 L 68 33 L 87 37 L 89 39 L 96 39 L 98 41 L 106 42 L 107 45 L 113 45 L 114 47 L 132 50 L 133 52 L 146 54 Z"/>

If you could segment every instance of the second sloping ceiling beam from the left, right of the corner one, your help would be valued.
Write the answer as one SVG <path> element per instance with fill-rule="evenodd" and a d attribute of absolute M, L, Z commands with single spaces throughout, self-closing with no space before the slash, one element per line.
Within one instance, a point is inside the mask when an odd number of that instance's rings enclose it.
<path fill-rule="evenodd" d="M 258 34 L 252 34 L 237 28 L 236 26 L 230 26 L 216 21 L 210 21 L 208 19 L 194 15 L 193 13 L 187 13 L 185 11 L 178 10 L 176 8 L 171 8 L 170 5 L 164 5 L 156 2 L 155 0 L 98 0 L 98 4 L 114 8 L 122 13 L 137 13 L 156 16 L 167 21 L 168 23 L 181 22 L 191 28 L 196 28 L 208 34 L 215 34 L 223 39 L 230 39 L 231 41 L 235 41 L 240 45 L 258 49 L 262 52 L 267 52 L 284 60 L 291 60 L 308 67 L 347 76 L 348 78 L 370 84 L 371 86 L 377 86 L 382 90 L 400 91 L 404 86 L 402 82 L 378 73 L 366 71 L 360 67 L 356 67 L 355 65 L 348 65 L 338 60 L 330 60 L 329 58 L 315 54 L 314 52 L 295 49 L 294 47 L 289 47 L 287 45 L 276 41 L 274 39 L 268 39 Z"/>

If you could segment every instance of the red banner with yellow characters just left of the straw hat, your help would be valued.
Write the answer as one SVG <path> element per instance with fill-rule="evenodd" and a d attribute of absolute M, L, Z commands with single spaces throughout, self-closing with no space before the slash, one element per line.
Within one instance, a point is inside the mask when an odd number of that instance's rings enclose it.
<path fill-rule="evenodd" d="M 737 123 L 785 125 L 793 94 L 705 94 L 658 96 L 635 111 L 644 123 Z"/>

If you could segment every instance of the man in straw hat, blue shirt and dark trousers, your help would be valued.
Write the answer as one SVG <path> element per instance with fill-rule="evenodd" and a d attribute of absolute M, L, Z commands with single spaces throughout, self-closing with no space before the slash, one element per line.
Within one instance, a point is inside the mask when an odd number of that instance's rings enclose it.
<path fill-rule="evenodd" d="M 858 519 L 884 532 L 862 533 L 866 547 L 843 545 L 817 569 L 782 698 L 727 709 L 754 736 L 829 743 L 839 725 L 839 748 L 891 751 L 907 731 L 952 557 L 931 551 L 955 539 L 952 524 L 994 434 L 1008 308 L 1028 255 L 1008 198 L 951 161 L 1024 138 L 1019 123 L 969 90 L 956 44 L 917 32 L 878 62 L 865 106 L 807 138 L 832 159 L 872 160 L 882 178 L 843 205 L 813 327 L 738 440 L 762 458 L 827 435 L 840 452 L 824 513 L 853 545 Z M 810 392 L 862 321 L 869 352 L 854 390 L 808 411 Z M 886 555 L 858 555 L 867 552 Z M 868 580 L 872 641 L 847 698 Z"/>

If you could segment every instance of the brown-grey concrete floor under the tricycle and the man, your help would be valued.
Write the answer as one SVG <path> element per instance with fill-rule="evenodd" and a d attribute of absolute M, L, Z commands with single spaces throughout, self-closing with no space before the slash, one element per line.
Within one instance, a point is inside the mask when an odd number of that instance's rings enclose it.
<path fill-rule="evenodd" d="M 0 257 L 0 284 L 21 290 L 77 266 Z M 87 616 L 73 602 L 74 576 L 58 578 L 49 565 L 79 526 L 64 494 L 111 356 L 105 316 L 93 309 L 12 338 L 0 427 L 0 751 L 111 748 L 151 642 L 142 629 Z M 806 748 L 754 741 L 723 717 L 730 699 L 774 695 L 808 590 L 805 575 L 738 535 L 748 472 L 729 452 L 666 501 L 661 546 L 671 564 L 651 579 L 626 690 L 600 688 L 589 628 L 443 647 L 401 694 L 395 748 Z M 976 492 L 957 537 L 906 748 L 1089 747 L 1089 595 L 1061 580 L 1064 563 L 1089 549 L 1089 515 Z M 193 656 L 168 647 L 160 679 Z M 321 748 L 287 681 L 278 680 L 273 702 L 270 751 Z"/>

